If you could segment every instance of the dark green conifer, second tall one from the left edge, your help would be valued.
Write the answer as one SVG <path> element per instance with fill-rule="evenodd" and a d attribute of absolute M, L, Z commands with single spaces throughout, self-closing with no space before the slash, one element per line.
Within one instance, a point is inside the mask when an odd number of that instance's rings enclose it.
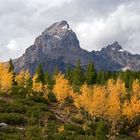
<path fill-rule="evenodd" d="M 39 64 L 37 69 L 36 69 L 36 74 L 38 76 L 38 78 L 36 79 L 36 82 L 41 82 L 44 83 L 44 71 L 42 68 L 42 64 Z"/>

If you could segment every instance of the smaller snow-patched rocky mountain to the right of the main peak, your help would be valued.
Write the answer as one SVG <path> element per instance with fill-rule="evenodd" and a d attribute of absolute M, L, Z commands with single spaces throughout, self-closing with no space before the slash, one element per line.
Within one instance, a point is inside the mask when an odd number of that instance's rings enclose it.
<path fill-rule="evenodd" d="M 140 70 L 140 55 L 133 55 L 124 50 L 118 42 L 114 42 L 101 51 L 92 51 L 93 60 L 98 69 L 118 71 L 118 70 Z"/>

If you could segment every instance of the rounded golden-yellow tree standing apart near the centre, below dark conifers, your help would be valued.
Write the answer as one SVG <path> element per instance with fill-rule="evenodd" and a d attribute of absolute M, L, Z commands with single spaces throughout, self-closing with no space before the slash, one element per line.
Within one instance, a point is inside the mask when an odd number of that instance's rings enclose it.
<path fill-rule="evenodd" d="M 72 87 L 69 84 L 69 81 L 65 79 L 63 74 L 58 74 L 55 77 L 55 85 L 53 88 L 54 93 L 58 101 L 64 101 L 68 96 L 73 94 Z"/>

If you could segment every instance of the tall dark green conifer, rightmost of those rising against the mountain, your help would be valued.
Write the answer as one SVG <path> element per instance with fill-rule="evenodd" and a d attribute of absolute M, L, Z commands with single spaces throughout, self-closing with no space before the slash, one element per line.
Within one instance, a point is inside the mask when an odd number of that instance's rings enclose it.
<path fill-rule="evenodd" d="M 93 63 L 88 64 L 85 77 L 88 85 L 96 83 L 96 71 Z"/>

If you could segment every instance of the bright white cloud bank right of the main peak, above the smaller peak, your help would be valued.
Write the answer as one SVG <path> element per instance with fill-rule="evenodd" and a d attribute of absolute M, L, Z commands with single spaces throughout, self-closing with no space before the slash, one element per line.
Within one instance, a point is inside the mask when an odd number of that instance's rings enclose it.
<path fill-rule="evenodd" d="M 81 46 L 88 50 L 100 50 L 117 40 L 125 49 L 137 53 L 140 44 L 139 13 L 139 5 L 136 3 L 122 4 L 106 17 L 91 18 L 90 21 L 79 23 L 75 30 Z"/>

